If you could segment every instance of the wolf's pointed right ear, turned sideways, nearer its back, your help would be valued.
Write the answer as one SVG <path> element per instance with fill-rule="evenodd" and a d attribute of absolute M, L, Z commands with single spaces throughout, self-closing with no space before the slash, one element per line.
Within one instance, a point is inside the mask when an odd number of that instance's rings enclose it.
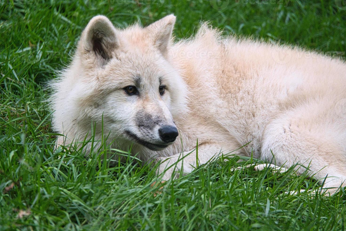
<path fill-rule="evenodd" d="M 150 36 L 154 39 L 154 46 L 157 47 L 164 57 L 167 55 L 167 48 L 171 42 L 174 23 L 175 16 L 172 14 L 167 15 L 146 27 Z"/>

